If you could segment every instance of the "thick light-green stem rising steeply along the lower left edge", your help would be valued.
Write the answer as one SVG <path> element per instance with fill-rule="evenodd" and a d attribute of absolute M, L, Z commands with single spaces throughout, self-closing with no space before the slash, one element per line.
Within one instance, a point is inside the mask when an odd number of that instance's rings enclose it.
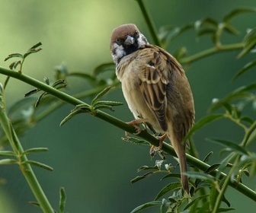
<path fill-rule="evenodd" d="M 27 162 L 27 156 L 23 154 L 24 149 L 22 148 L 21 142 L 19 141 L 18 136 L 16 135 L 13 127 L 11 126 L 11 122 L 8 119 L 7 113 L 5 112 L 5 100 L 3 91 L 0 107 L 0 123 L 3 131 L 5 132 L 5 135 L 8 138 L 8 141 L 10 142 L 11 148 L 16 154 L 18 164 L 21 168 L 21 172 L 27 180 L 30 189 L 34 193 L 37 202 L 40 204 L 40 208 L 42 208 L 43 212 L 54 212 L 52 206 L 50 205 L 50 202 L 46 198 L 46 195 L 44 194 L 43 189 L 40 186 L 40 183 L 37 180 L 37 177 L 34 174 L 34 171 L 32 170 L 32 167 L 30 167 L 30 164 L 24 163 Z"/>

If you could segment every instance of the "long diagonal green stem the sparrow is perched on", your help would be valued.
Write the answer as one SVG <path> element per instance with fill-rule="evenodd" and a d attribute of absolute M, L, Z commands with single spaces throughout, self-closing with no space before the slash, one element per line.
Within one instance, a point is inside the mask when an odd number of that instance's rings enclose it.
<path fill-rule="evenodd" d="M 30 78 L 27 75 L 20 74 L 8 68 L 2 68 L 2 67 L 0 67 L 0 73 L 2 73 L 3 75 L 11 76 L 12 78 L 17 78 L 18 80 L 24 81 L 27 84 L 40 88 L 42 91 L 46 91 L 47 93 L 52 94 L 54 97 L 57 97 L 60 100 L 65 101 L 66 103 L 70 103 L 72 105 L 85 104 L 89 106 L 87 103 L 82 102 L 82 100 L 78 100 L 75 97 L 70 96 L 69 94 L 65 94 L 62 91 L 58 91 L 47 84 L 43 84 L 42 82 L 37 81 L 34 78 Z M 126 132 L 136 133 L 135 129 L 132 126 L 129 126 L 128 124 L 126 124 L 126 122 L 123 122 L 120 119 L 117 119 L 114 116 L 110 116 L 109 114 L 104 113 L 100 110 L 97 110 L 97 113 L 94 114 L 94 116 L 100 119 L 103 119 L 104 121 L 109 122 L 112 125 L 117 126 L 118 128 L 123 129 Z M 146 141 L 149 141 L 154 146 L 159 145 L 158 139 L 155 138 L 153 135 L 150 135 L 145 130 L 139 133 L 139 137 L 144 138 Z M 176 156 L 175 151 L 171 147 L 171 145 L 164 143 L 162 145 L 162 150 L 167 152 L 168 154 L 171 154 L 172 156 Z M 200 161 L 196 157 L 193 157 L 189 154 L 187 154 L 187 162 L 188 164 L 191 164 L 192 166 L 197 167 L 203 171 L 207 170 L 210 167 L 210 165 L 205 164 L 203 161 Z M 216 175 L 216 173 L 219 173 L 219 172 L 216 171 L 215 173 L 213 173 L 213 175 Z M 220 176 L 225 177 L 226 174 L 221 173 Z M 238 190 L 239 192 L 242 192 L 242 194 L 244 194 L 245 196 L 247 196 L 248 198 L 256 202 L 256 192 L 249 189 L 247 186 L 243 185 L 242 183 L 232 183 L 232 182 L 229 183 L 229 185 L 232 186 L 234 189 Z"/>

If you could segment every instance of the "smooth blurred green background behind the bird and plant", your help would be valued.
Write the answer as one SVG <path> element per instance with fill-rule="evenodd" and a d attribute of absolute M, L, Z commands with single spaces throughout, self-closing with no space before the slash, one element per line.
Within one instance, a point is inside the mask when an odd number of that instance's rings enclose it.
<path fill-rule="evenodd" d="M 152 15 L 157 29 L 162 25 L 182 26 L 202 17 L 220 20 L 223 15 L 238 6 L 256 6 L 254 0 L 205 1 L 205 0 L 162 0 L 144 1 Z M 53 68 L 65 62 L 69 72 L 92 72 L 103 62 L 110 62 L 110 33 L 120 24 L 134 23 L 140 31 L 152 40 L 136 1 L 133 0 L 77 0 L 77 1 L 33 1 L 2 0 L 0 2 L 0 65 L 8 54 L 25 52 L 37 42 L 43 43 L 43 51 L 30 56 L 24 63 L 23 72 L 40 81 L 47 76 L 53 78 Z M 243 14 L 233 20 L 241 30 L 239 37 L 223 37 L 223 43 L 242 40 L 248 27 L 255 27 L 255 14 Z M 168 46 L 174 52 L 187 46 L 189 55 L 212 46 L 209 37 L 197 40 L 193 30 L 184 33 Z M 197 119 L 205 116 L 214 97 L 223 97 L 238 86 L 255 81 L 250 72 L 235 83 L 232 77 L 239 68 L 250 61 L 237 60 L 238 52 L 226 52 L 210 56 L 185 67 L 196 106 Z M 0 76 L 3 83 L 4 76 Z M 32 87 L 11 79 L 6 90 L 7 104 L 11 106 L 24 97 Z M 88 88 L 85 81 L 69 80 L 69 91 L 83 91 Z M 120 89 L 112 91 L 108 100 L 124 102 Z M 121 140 L 124 132 L 107 122 L 89 115 L 79 115 L 65 126 L 59 122 L 73 106 L 61 109 L 29 129 L 21 138 L 25 148 L 47 147 L 47 153 L 33 154 L 30 158 L 49 164 L 53 172 L 35 168 L 35 172 L 46 196 L 54 208 L 58 208 L 59 187 L 64 186 L 67 194 L 67 212 L 130 212 L 137 205 L 154 199 L 161 186 L 168 180 L 153 176 L 132 185 L 130 180 L 137 176 L 136 170 L 142 165 L 154 165 L 149 157 L 149 148 L 128 144 Z M 124 121 L 133 119 L 126 104 L 117 106 L 112 113 Z M 239 141 L 242 132 L 230 122 L 217 122 L 194 136 L 200 158 L 214 151 L 210 164 L 218 162 L 218 145 L 209 144 L 205 138 L 225 138 Z M 168 157 L 168 161 L 175 163 Z M 0 167 L 0 212 L 40 212 L 30 205 L 34 196 L 17 166 Z M 255 183 L 251 181 L 251 187 Z M 250 199 L 229 189 L 227 199 L 236 211 L 247 212 L 256 209 Z M 158 212 L 152 209 L 146 212 Z"/>

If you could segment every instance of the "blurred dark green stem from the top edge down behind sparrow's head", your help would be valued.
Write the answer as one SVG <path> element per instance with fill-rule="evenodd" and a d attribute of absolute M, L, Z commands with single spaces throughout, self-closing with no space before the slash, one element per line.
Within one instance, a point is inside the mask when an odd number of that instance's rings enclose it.
<path fill-rule="evenodd" d="M 142 11 L 142 15 L 145 18 L 146 24 L 149 27 L 149 32 L 152 36 L 153 42 L 157 46 L 162 46 L 162 44 L 158 38 L 157 30 L 155 29 L 155 24 L 153 24 L 152 18 L 149 16 L 149 12 L 146 10 L 146 7 L 145 7 L 143 1 L 142 0 L 136 0 L 136 1 L 138 2 L 139 8 Z"/>

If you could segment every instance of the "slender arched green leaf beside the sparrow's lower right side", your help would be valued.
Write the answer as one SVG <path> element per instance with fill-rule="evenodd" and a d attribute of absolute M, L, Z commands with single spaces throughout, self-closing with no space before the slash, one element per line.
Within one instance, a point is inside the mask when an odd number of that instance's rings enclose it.
<path fill-rule="evenodd" d="M 221 119 L 223 117 L 222 114 L 215 114 L 215 115 L 209 115 L 205 116 L 199 121 L 197 121 L 194 126 L 190 129 L 190 131 L 187 133 L 187 135 L 184 137 L 184 141 L 187 141 L 188 138 L 190 138 L 191 135 L 194 134 L 194 132 L 197 131 L 197 129 L 202 128 L 203 126 L 206 126 L 208 123 L 216 121 L 218 119 Z"/>

